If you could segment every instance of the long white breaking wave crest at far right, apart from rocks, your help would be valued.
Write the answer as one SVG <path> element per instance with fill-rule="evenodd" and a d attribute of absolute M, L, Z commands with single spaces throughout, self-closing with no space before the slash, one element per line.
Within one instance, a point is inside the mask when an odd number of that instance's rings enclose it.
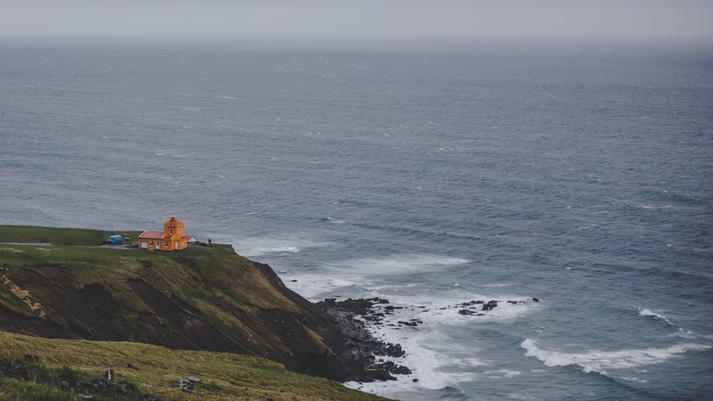
<path fill-rule="evenodd" d="M 684 343 L 667 348 L 627 349 L 615 351 L 588 350 L 583 353 L 566 353 L 561 350 L 545 350 L 535 340 L 527 338 L 520 344 L 525 356 L 535 357 L 546 366 L 579 365 L 585 372 L 607 375 L 608 370 L 637 368 L 642 365 L 663 363 L 689 350 L 706 350 L 709 345 Z"/>

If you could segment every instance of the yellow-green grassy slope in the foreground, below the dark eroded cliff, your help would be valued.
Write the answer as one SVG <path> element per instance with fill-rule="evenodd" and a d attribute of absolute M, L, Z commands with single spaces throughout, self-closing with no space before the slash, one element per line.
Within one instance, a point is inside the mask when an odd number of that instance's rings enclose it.
<path fill-rule="evenodd" d="M 55 340 L 1 331 L 0 343 L 3 345 L 0 358 L 6 360 L 22 360 L 26 354 L 39 355 L 44 368 L 61 370 L 70 366 L 86 377 L 103 377 L 111 368 L 117 381 L 126 379 L 138 385 L 144 394 L 173 400 L 197 400 L 199 397 L 202 400 L 234 397 L 252 400 L 384 400 L 350 390 L 338 382 L 291 373 L 279 363 L 246 355 L 169 350 L 140 343 Z M 138 370 L 127 368 L 128 364 Z M 178 380 L 188 375 L 202 380 L 196 385 L 195 394 L 174 387 Z M 13 392 L 27 391 L 35 397 L 48 395 L 47 399 L 54 399 L 56 394 L 51 385 L 5 380 L 4 392 L 9 390 L 7 386 L 14 384 L 17 388 L 11 388 Z M 2 395 L 0 392 L 0 398 Z"/>

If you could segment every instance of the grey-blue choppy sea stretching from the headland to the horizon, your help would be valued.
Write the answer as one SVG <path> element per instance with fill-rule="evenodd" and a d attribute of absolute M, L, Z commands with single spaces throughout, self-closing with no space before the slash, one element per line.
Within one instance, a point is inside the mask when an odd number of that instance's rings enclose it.
<path fill-rule="evenodd" d="M 713 397 L 713 43 L 1 41 L 0 224 L 172 213 L 388 300 L 412 373 L 349 387 Z"/>

